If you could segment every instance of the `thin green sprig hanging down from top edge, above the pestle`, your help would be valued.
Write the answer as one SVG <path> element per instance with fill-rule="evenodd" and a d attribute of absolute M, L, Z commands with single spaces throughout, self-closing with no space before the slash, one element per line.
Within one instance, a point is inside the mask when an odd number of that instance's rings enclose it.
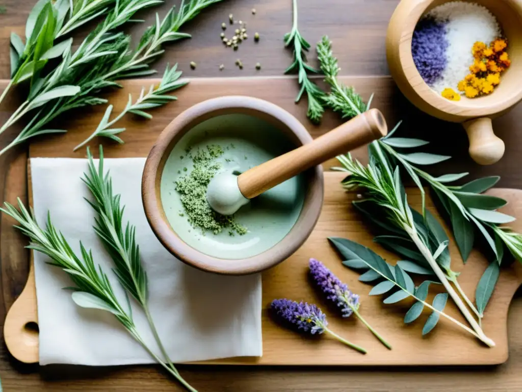
<path fill-rule="evenodd" d="M 312 80 L 309 79 L 307 72 L 318 73 L 315 68 L 306 64 L 305 52 L 310 49 L 310 44 L 301 36 L 298 28 L 298 11 L 297 1 L 293 2 L 293 24 L 292 30 L 289 33 L 284 34 L 284 45 L 289 47 L 292 45 L 294 53 L 293 63 L 284 71 L 285 74 L 290 72 L 298 72 L 298 81 L 301 85 L 299 94 L 295 98 L 295 103 L 301 100 L 301 97 L 306 91 L 308 96 L 308 112 L 306 116 L 315 123 L 321 121 L 323 117 L 323 97 L 324 93 Z"/>

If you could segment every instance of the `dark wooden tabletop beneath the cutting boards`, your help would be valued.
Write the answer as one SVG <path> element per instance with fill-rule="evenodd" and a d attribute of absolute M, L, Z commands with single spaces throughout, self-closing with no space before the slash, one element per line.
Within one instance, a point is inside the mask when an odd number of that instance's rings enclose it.
<path fill-rule="evenodd" d="M 156 8 L 160 15 L 172 6 L 169 1 Z M 178 1 L 175 2 L 179 3 Z M 335 52 L 344 75 L 385 76 L 388 69 L 385 60 L 385 33 L 389 17 L 398 0 L 300 0 L 300 30 L 303 36 L 314 43 L 322 34 L 328 34 L 334 41 Z M 9 77 L 9 34 L 11 31 L 23 36 L 26 18 L 34 0 L 0 0 L 0 6 L 7 13 L 0 15 L 0 78 Z M 251 9 L 257 14 L 252 16 Z M 156 10 L 155 9 L 155 10 Z M 248 23 L 248 33 L 253 36 L 258 31 L 261 40 L 258 45 L 244 44 L 238 52 L 224 50 L 219 43 L 220 24 L 228 14 Z M 152 11 L 145 13 L 145 24 L 134 26 L 133 33 L 141 33 L 152 20 Z M 185 76 L 190 77 L 239 77 L 239 76 L 281 76 L 291 61 L 291 52 L 283 48 L 282 36 L 291 27 L 291 0 L 224 0 L 198 16 L 184 31 L 193 38 L 178 42 L 167 48 L 165 55 L 156 64 L 161 72 L 167 64 L 179 62 Z M 81 34 L 79 34 L 81 36 Z M 249 42 L 250 43 L 250 42 Z M 240 71 L 234 66 L 236 58 L 241 58 L 245 67 Z M 312 56 L 311 56 L 312 57 Z M 196 70 L 191 71 L 189 62 L 195 61 Z M 254 64 L 262 64 L 256 71 Z M 219 64 L 225 69 L 219 71 Z M 297 90 L 297 87 L 296 87 Z M 399 93 L 394 101 L 407 105 Z M 394 102 L 395 103 L 395 102 Z M 302 102 L 305 110 L 305 102 Z M 330 114 L 331 115 L 331 114 Z M 0 120 L 5 119 L 0 108 Z M 423 129 L 422 122 L 409 119 L 413 130 Z M 425 119 L 424 119 L 425 121 Z M 435 126 L 434 126 L 435 124 Z M 506 142 L 506 154 L 499 164 L 484 168 L 474 165 L 467 158 L 465 133 L 448 132 L 444 124 L 431 124 L 431 133 L 423 135 L 438 145 L 451 145 L 458 151 L 456 158 L 459 169 L 465 168 L 472 176 L 485 173 L 503 176 L 501 186 L 522 188 L 522 176 L 518 167 L 521 153 L 522 130 L 519 123 L 507 117 L 502 121 L 499 135 Z M 0 147 L 7 138 L 0 138 Z M 20 193 L 25 194 L 25 154 L 21 147 L 0 158 L 0 195 L 3 196 L 8 170 L 18 172 Z M 446 153 L 446 151 L 443 151 Z M 452 162 L 455 162 L 453 160 Z M 451 163 L 449 164 L 451 165 Z M 442 164 L 437 171 L 447 170 Z M 13 176 L 10 176 L 13 178 Z M 4 198 L 1 197 L 0 201 Z M 2 260 L 3 261 L 3 260 Z M 9 263 L 12 265 L 13 263 Z M 19 265 L 8 271 L 2 269 L 2 301 L 0 301 L 0 327 L 6 310 L 20 293 L 26 281 L 27 266 Z M 180 366 L 189 383 L 202 391 L 426 391 L 440 390 L 497 392 L 522 390 L 522 300 L 517 293 L 509 312 L 509 360 L 497 367 L 457 367 L 457 368 L 256 368 L 223 366 Z M 0 332 L 1 334 L 2 332 Z M 412 339 L 418 339 L 412 336 Z M 455 348 L 458 350 L 458 348 Z M 84 368 L 24 365 L 9 355 L 5 344 L 0 345 L 0 377 L 6 392 L 37 391 L 163 391 L 179 388 L 155 366 Z M 181 389 L 180 389 L 181 390 Z"/>

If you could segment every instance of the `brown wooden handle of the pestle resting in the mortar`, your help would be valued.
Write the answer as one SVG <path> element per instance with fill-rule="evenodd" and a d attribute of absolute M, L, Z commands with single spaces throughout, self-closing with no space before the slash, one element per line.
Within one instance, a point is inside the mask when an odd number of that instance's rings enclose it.
<path fill-rule="evenodd" d="M 243 172 L 238 177 L 239 189 L 245 198 L 252 199 L 306 169 L 380 139 L 386 133 L 383 114 L 370 109 L 311 143 Z"/>

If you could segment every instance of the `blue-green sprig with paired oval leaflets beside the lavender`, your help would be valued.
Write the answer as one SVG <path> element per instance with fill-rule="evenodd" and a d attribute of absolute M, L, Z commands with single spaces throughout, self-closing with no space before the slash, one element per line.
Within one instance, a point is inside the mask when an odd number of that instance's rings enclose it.
<path fill-rule="evenodd" d="M 422 313 L 424 306 L 428 306 L 433 309 L 433 313 L 426 320 L 422 334 L 425 335 L 435 327 L 440 315 L 443 314 L 442 311 L 444 310 L 444 307 L 446 306 L 446 300 L 448 297 L 446 293 L 437 294 L 433 299 L 433 306 L 430 306 L 425 302 L 425 299 L 428 296 L 428 287 L 430 283 L 432 283 L 431 281 L 424 281 L 416 288 L 411 276 L 401 268 L 399 263 L 397 263 L 396 266 L 392 266 L 371 249 L 358 243 L 354 243 L 346 238 L 330 237 L 328 240 L 332 245 L 334 245 L 340 255 L 343 258 L 346 258 L 345 261 L 342 261 L 344 266 L 355 270 L 365 271 L 361 276 L 364 276 L 371 271 L 372 273 L 377 274 L 378 278 L 381 279 L 380 282 L 373 286 L 369 295 L 383 295 L 389 293 L 393 289 L 398 289 L 384 298 L 383 303 L 394 304 L 408 297 L 412 297 L 417 302 L 414 303 L 406 313 L 404 322 L 409 323 L 416 320 Z M 375 280 L 376 279 L 372 279 L 371 281 Z"/>

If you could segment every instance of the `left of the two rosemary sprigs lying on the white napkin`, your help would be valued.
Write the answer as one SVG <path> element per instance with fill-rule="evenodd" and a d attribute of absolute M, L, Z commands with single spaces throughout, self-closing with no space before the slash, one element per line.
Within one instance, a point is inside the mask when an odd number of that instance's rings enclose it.
<path fill-rule="evenodd" d="M 13 205 L 4 203 L 5 209 L 0 211 L 13 217 L 20 225 L 16 226 L 24 235 L 29 237 L 31 244 L 29 249 L 38 251 L 48 256 L 51 261 L 49 264 L 61 268 L 65 271 L 73 283 L 74 287 L 67 287 L 73 290 L 73 301 L 76 305 L 85 308 L 93 308 L 110 312 L 125 327 L 128 333 L 165 368 L 177 381 L 187 390 L 197 392 L 189 385 L 183 377 L 175 370 L 163 362 L 139 335 L 133 320 L 131 304 L 127 297 L 127 309 L 120 304 L 108 276 L 100 266 L 94 264 L 92 253 L 87 251 L 80 242 L 81 259 L 76 256 L 70 248 L 67 240 L 62 233 L 58 232 L 53 226 L 51 216 L 48 214 L 47 228 L 42 229 L 34 220 L 34 214 L 27 211 L 20 199 L 18 199 L 18 211 Z"/>

